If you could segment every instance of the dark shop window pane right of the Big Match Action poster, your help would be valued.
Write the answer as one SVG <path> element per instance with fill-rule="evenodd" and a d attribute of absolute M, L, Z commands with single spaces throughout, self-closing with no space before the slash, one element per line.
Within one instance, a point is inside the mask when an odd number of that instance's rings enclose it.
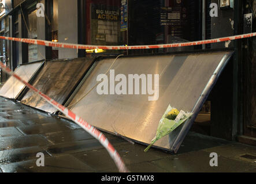
<path fill-rule="evenodd" d="M 184 43 L 201 40 L 199 1 L 129 1 L 129 45 Z M 132 51 L 171 52 L 201 49 L 199 46 Z"/>

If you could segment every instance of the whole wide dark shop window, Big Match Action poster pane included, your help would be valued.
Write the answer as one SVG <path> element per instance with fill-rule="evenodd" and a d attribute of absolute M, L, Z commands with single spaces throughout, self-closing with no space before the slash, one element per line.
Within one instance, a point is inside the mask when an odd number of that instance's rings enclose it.
<path fill-rule="evenodd" d="M 201 40 L 201 11 L 198 11 L 201 8 L 201 3 L 195 0 L 86 1 L 86 44 L 148 45 Z M 201 48 L 196 45 L 184 48 L 134 50 L 129 53 Z M 92 50 L 88 52 L 95 53 Z"/>

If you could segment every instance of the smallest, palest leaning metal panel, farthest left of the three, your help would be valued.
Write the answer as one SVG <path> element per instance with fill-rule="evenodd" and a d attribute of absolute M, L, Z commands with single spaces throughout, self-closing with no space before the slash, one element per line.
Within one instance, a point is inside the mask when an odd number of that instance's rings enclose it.
<path fill-rule="evenodd" d="M 42 66 L 42 64 L 43 62 L 24 64 L 16 68 L 14 73 L 18 76 L 21 76 L 24 81 L 29 82 Z M 0 95 L 2 97 L 16 99 L 24 88 L 25 85 L 23 83 L 19 82 L 17 79 L 11 76 L 8 81 L 6 81 L 5 85 L 3 85 L 1 88 Z"/>

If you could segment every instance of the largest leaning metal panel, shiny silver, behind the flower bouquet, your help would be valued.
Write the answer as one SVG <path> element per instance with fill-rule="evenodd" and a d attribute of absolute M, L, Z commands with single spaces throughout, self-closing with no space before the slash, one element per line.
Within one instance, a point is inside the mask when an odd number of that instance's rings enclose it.
<path fill-rule="evenodd" d="M 201 101 L 203 91 L 207 85 L 214 85 L 211 79 L 221 72 L 217 68 L 224 67 L 230 55 L 231 52 L 213 52 L 121 57 L 114 64 L 114 59 L 99 60 L 90 75 L 84 78 L 83 84 L 73 95 L 69 106 L 74 113 L 85 118 L 95 127 L 118 133 L 140 143 L 150 144 L 157 132 L 159 120 L 169 104 L 177 109 L 198 113 L 194 110 L 196 106 L 203 104 Z M 127 81 L 130 74 L 153 75 L 152 82 L 147 81 L 147 86 L 151 82 L 153 89 L 159 87 L 157 101 L 149 101 L 152 95 L 142 95 L 141 90 L 137 95 L 99 95 L 97 93 L 99 86 L 94 87 L 97 84 L 97 77 L 105 74 L 110 66 L 115 76 L 123 74 L 127 77 Z M 159 86 L 154 86 L 154 74 L 159 74 Z M 110 75 L 108 79 L 114 80 Z M 115 83 L 117 84 L 118 82 Z M 128 86 L 127 82 L 127 91 L 129 87 L 131 86 Z M 111 90 L 109 85 L 109 93 Z M 207 90 L 209 91 L 210 89 Z M 185 124 L 187 123 L 191 122 L 187 121 Z M 180 128 L 173 132 L 175 136 L 166 136 L 158 140 L 155 146 L 173 151 L 173 143 L 181 132 Z"/>

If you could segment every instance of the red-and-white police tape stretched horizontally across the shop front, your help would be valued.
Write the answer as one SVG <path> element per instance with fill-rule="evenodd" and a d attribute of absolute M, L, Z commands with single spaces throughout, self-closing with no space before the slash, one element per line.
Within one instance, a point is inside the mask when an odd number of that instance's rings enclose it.
<path fill-rule="evenodd" d="M 240 35 L 236 35 L 236 36 L 222 37 L 222 38 L 211 39 L 211 40 L 201 40 L 201 41 L 192 41 L 192 42 L 185 42 L 185 43 L 174 43 L 174 44 L 135 45 L 135 46 L 81 45 L 81 44 L 58 43 L 58 42 L 46 41 L 46 40 L 21 39 L 21 38 L 13 38 L 13 37 L 5 37 L 5 36 L 0 36 L 0 39 L 18 41 L 18 42 L 22 42 L 22 43 L 35 44 L 35 45 L 43 45 L 46 47 L 57 47 L 57 48 L 122 50 L 122 49 L 152 49 L 152 48 L 187 47 L 187 46 L 194 46 L 194 45 L 220 43 L 223 41 L 246 39 L 246 38 L 250 38 L 250 37 L 254 37 L 254 36 L 256 36 L 256 32 L 249 33 L 249 34 L 240 34 Z"/>

